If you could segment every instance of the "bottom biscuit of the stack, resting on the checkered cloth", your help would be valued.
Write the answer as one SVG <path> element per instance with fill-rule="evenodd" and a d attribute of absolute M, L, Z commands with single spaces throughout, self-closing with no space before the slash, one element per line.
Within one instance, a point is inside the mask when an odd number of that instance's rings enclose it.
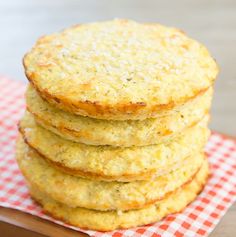
<path fill-rule="evenodd" d="M 111 231 L 126 229 L 161 220 L 168 214 L 182 211 L 201 192 L 208 177 L 207 161 L 195 178 L 181 188 L 146 208 L 130 211 L 94 211 L 85 208 L 70 208 L 31 186 L 32 197 L 42 205 L 45 212 L 66 223 L 85 229 Z"/>

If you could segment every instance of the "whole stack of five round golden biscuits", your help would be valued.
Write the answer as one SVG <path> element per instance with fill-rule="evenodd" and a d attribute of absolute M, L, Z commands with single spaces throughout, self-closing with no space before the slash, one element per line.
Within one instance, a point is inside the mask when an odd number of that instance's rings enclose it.
<path fill-rule="evenodd" d="M 47 213 L 110 231 L 179 212 L 202 190 L 218 73 L 203 45 L 118 19 L 40 38 L 24 67 L 17 161 Z"/>

